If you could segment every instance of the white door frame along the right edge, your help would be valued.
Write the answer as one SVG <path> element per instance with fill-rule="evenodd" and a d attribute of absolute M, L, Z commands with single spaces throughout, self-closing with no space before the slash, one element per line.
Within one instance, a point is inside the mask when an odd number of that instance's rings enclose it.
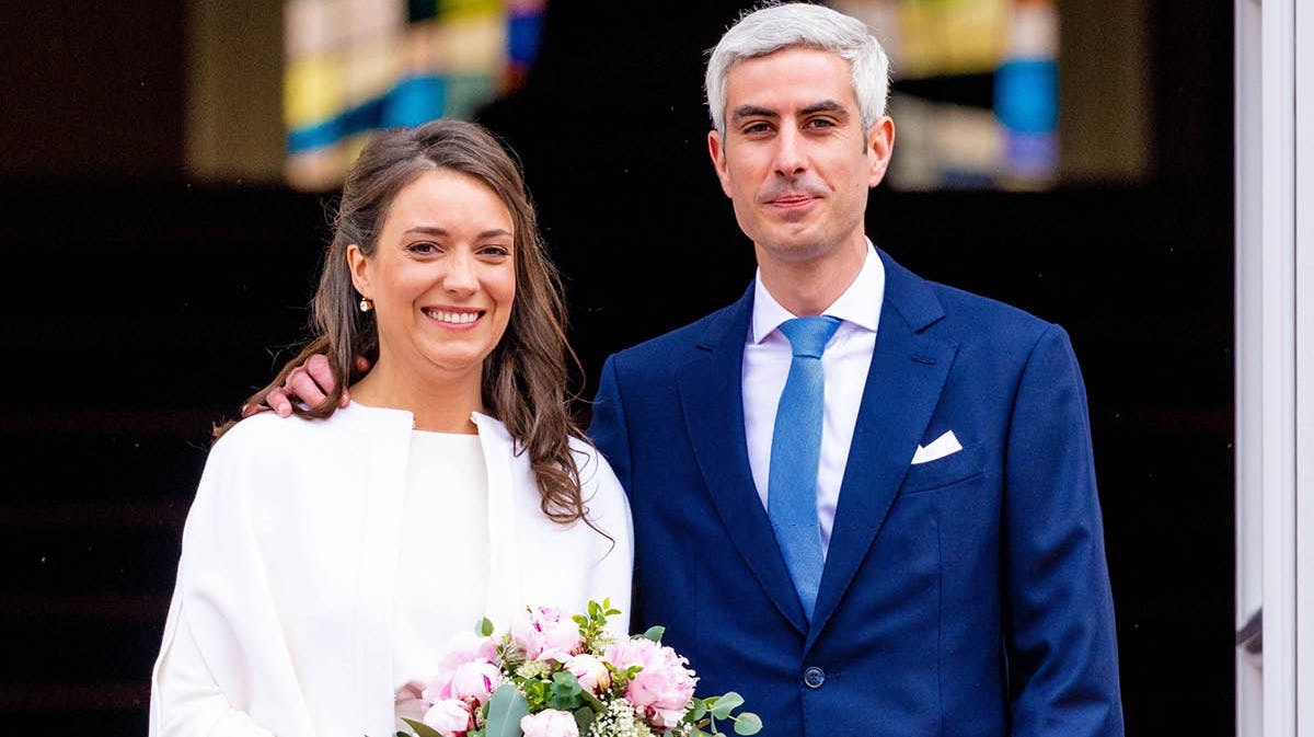
<path fill-rule="evenodd" d="M 1238 642 L 1236 732 L 1297 737 L 1314 734 L 1314 8 L 1235 0 L 1235 21 L 1238 632 L 1261 623 L 1261 652 Z"/>

